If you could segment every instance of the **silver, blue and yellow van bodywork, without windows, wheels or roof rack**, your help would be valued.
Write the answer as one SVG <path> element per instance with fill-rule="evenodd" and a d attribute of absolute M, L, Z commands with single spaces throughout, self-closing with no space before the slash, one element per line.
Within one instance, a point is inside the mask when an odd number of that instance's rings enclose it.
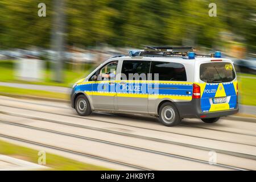
<path fill-rule="evenodd" d="M 141 80 L 137 82 L 136 80 L 123 80 L 123 64 L 129 63 L 129 61 L 133 63 L 136 61 L 143 61 L 143 63 L 148 62 L 148 65 L 150 65 L 149 70 L 152 69 L 153 63 L 155 65 L 159 65 L 160 63 L 183 65 L 186 79 L 185 81 Z M 104 68 L 105 65 L 113 62 L 117 63 L 115 78 L 109 80 L 92 80 L 94 75 L 99 74 L 99 71 Z M 232 80 L 216 83 L 208 83 L 201 80 L 201 76 L 204 75 L 200 73 L 204 72 L 204 70 L 201 69 L 201 65 L 212 63 L 214 63 L 214 65 L 221 63 L 226 67 L 227 71 L 232 69 L 233 75 L 235 74 L 233 62 L 229 59 L 222 58 L 195 57 L 195 59 L 191 60 L 184 57 L 165 56 L 113 57 L 99 65 L 86 78 L 76 82 L 71 94 L 71 105 L 73 108 L 76 108 L 76 98 L 82 94 L 88 99 L 92 111 L 101 110 L 158 116 L 160 106 L 165 102 L 171 102 L 175 105 L 180 118 L 215 118 L 235 114 L 238 112 L 237 77 L 234 75 Z M 174 70 L 176 69 L 179 68 L 174 68 Z M 210 68 L 208 67 L 208 69 Z M 216 68 L 214 67 L 214 69 Z M 205 68 L 205 70 L 207 70 L 207 68 Z M 214 73 L 213 77 L 216 76 L 217 73 L 218 72 Z M 146 91 L 136 92 L 138 91 L 136 90 L 138 89 L 136 84 L 139 83 L 146 83 Z M 199 98 L 193 96 L 193 92 L 195 92 L 195 84 L 201 89 Z M 130 85 L 132 85 L 133 88 L 130 88 Z M 121 89 L 126 88 L 126 90 L 123 89 L 125 90 L 125 93 L 118 92 L 118 86 L 121 86 Z M 109 90 L 104 90 L 106 87 L 110 90 L 114 87 L 115 89 L 112 89 L 110 92 Z M 152 88 L 158 90 L 159 93 L 156 93 L 155 90 L 154 93 L 149 93 L 149 90 Z M 99 91 L 99 89 L 101 90 Z M 130 93 L 129 89 L 131 89 Z M 215 103 L 214 101 L 217 102 Z"/>

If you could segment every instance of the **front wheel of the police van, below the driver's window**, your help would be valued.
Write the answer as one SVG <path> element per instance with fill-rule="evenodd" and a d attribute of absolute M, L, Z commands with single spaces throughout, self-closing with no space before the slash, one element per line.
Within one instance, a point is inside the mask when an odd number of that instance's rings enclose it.
<path fill-rule="evenodd" d="M 86 96 L 81 95 L 76 98 L 75 109 L 77 114 L 85 116 L 92 114 L 92 109 L 90 109 L 90 103 Z"/>

